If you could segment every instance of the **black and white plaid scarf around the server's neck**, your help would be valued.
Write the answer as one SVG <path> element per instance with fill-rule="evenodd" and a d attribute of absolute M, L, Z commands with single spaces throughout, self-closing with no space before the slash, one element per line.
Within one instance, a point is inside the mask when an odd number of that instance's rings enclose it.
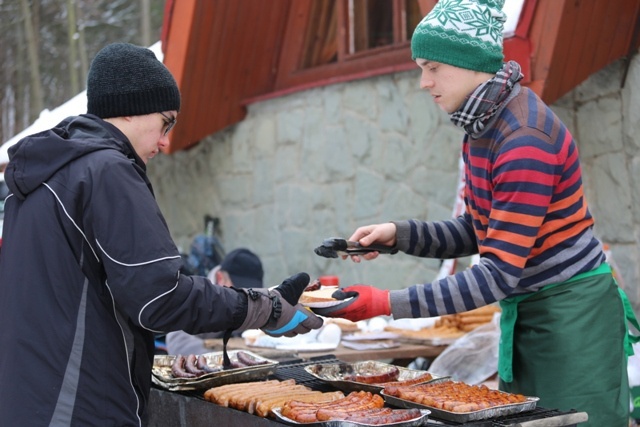
<path fill-rule="evenodd" d="M 479 85 L 449 116 L 469 135 L 479 134 L 524 75 L 515 61 L 505 62 L 494 77 Z"/>

